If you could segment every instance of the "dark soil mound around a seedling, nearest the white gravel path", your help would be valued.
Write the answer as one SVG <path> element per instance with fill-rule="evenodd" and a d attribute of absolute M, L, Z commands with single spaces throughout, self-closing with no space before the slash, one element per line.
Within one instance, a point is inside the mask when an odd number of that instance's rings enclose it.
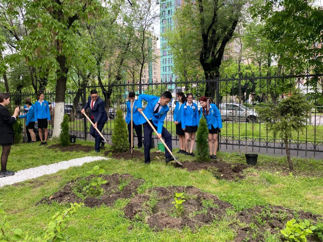
<path fill-rule="evenodd" d="M 73 203 L 83 202 L 88 207 L 99 207 L 102 204 L 112 206 L 119 198 L 131 198 L 137 194 L 137 188 L 144 182 L 141 179 L 134 179 L 129 174 L 102 175 L 102 179 L 108 181 L 102 184 L 103 195 L 99 197 L 86 196 L 83 192 L 83 186 L 89 184 L 94 176 L 88 176 L 85 179 L 72 180 L 68 182 L 62 189 L 50 197 L 44 197 L 39 203 L 47 202 L 51 204 L 53 201 L 57 203 Z M 78 195 L 77 195 L 78 194 Z"/>

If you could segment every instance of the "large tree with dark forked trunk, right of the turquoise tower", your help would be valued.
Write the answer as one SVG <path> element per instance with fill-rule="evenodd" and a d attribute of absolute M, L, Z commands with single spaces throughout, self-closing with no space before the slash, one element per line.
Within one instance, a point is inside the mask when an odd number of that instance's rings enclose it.
<path fill-rule="evenodd" d="M 192 59 L 199 60 L 205 79 L 214 79 L 219 76 L 225 46 L 234 34 L 244 4 L 243 0 L 233 0 L 230 4 L 222 0 L 197 0 L 194 4 L 188 3 L 176 10 L 175 25 L 186 22 L 192 31 L 190 42 L 185 38 L 180 38 L 181 29 L 174 29 L 174 35 L 177 36 L 179 42 L 178 46 L 182 46 L 182 49 L 190 53 Z M 176 56 L 176 53 L 180 51 L 181 49 L 173 49 L 173 55 Z M 214 82 L 207 83 L 205 96 L 214 99 Z"/>

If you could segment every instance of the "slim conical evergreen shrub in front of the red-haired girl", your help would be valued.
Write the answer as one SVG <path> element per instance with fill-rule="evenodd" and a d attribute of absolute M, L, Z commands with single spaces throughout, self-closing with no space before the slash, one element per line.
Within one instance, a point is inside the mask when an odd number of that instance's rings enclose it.
<path fill-rule="evenodd" d="M 196 160 L 199 162 L 208 161 L 209 146 L 208 143 L 209 130 L 207 128 L 206 120 L 203 117 L 200 120 L 199 128 L 196 132 Z"/>

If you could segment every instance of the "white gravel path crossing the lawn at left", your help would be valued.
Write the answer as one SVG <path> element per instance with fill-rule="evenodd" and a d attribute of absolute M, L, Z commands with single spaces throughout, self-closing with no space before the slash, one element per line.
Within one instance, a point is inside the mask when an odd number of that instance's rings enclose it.
<path fill-rule="evenodd" d="M 26 170 L 17 171 L 13 176 L 0 178 L 0 187 L 26 181 L 47 174 L 53 174 L 59 170 L 67 169 L 71 166 L 82 166 L 84 163 L 89 163 L 97 160 L 108 160 L 108 158 L 101 156 L 86 156 L 82 158 L 61 161 L 58 163 L 50 164 L 48 166 L 38 166 Z"/>

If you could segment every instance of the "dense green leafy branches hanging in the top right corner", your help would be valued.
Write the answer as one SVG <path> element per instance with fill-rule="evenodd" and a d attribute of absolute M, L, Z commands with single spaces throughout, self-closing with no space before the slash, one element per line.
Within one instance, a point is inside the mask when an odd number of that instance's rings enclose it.
<path fill-rule="evenodd" d="M 253 7 L 253 17 L 265 23 L 263 34 L 272 44 L 272 52 L 279 56 L 279 65 L 304 72 L 309 69 L 323 72 L 323 9 L 312 0 L 269 0 Z M 322 82 L 308 79 L 323 103 Z"/>

